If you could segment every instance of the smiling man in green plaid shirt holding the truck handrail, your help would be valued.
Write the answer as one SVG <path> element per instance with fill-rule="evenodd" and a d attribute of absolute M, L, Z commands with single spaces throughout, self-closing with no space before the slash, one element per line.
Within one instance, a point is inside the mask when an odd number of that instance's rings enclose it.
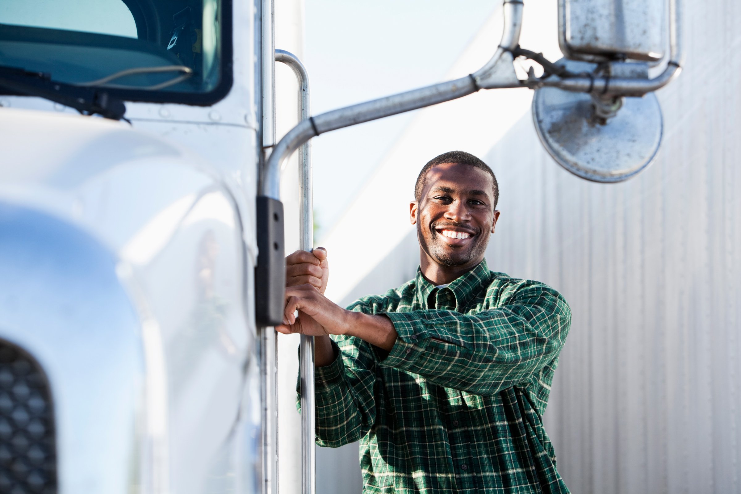
<path fill-rule="evenodd" d="M 568 493 L 541 417 L 571 311 L 488 270 L 498 198 L 479 158 L 433 158 L 409 210 L 416 278 L 348 310 L 323 295 L 325 250 L 287 258 L 276 329 L 316 336 L 316 442 L 361 441 L 364 492 Z"/>

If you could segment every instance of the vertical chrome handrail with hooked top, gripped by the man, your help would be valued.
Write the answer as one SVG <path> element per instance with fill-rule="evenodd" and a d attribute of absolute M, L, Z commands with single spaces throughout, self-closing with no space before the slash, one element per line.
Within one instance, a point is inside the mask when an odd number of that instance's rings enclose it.
<path fill-rule="evenodd" d="M 301 61 L 285 50 L 276 50 L 276 61 L 282 62 L 299 79 L 299 121 L 307 120 L 309 109 L 309 76 Z M 311 141 L 299 147 L 299 247 L 313 249 L 313 197 L 311 191 Z M 314 458 L 314 337 L 301 336 L 299 346 L 301 368 L 301 478 L 302 494 L 316 492 L 316 460 Z"/>

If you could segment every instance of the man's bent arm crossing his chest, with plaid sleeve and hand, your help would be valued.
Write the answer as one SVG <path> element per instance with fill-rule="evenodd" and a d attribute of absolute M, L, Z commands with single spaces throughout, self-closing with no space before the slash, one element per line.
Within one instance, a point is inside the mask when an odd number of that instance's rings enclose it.
<path fill-rule="evenodd" d="M 506 290 L 506 305 L 471 316 L 450 310 L 370 316 L 342 309 L 304 285 L 287 290 L 286 324 L 276 329 L 302 330 L 293 316 L 298 309 L 325 334 L 357 336 L 390 350 L 382 365 L 488 395 L 533 378 L 558 356 L 571 324 L 568 304 L 551 287 L 520 281 Z"/>

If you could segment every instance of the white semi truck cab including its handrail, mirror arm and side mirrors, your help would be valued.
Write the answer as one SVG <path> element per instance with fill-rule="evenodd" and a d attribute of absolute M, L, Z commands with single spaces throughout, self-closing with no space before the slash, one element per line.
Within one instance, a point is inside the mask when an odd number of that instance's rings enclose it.
<path fill-rule="evenodd" d="M 652 92 L 681 64 L 677 0 L 663 17 L 651 4 L 559 0 L 556 64 L 519 47 L 523 4 L 505 0 L 480 70 L 311 117 L 306 70 L 273 46 L 272 0 L 0 2 L 0 493 L 276 493 L 288 156 L 307 250 L 310 138 L 478 90 L 536 90 L 559 164 L 633 176 L 661 139 Z M 626 41 L 605 26 L 660 32 Z M 518 76 L 518 57 L 542 75 Z M 300 83 L 299 124 L 280 140 L 276 60 Z"/>

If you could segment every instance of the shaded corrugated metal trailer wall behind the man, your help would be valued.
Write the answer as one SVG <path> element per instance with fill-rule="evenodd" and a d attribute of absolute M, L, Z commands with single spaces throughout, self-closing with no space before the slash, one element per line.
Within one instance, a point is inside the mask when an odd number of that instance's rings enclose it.
<path fill-rule="evenodd" d="M 529 115 L 485 156 L 491 269 L 574 311 L 545 421 L 575 494 L 741 492 L 741 2 L 685 2 L 684 24 L 662 150 L 636 178 L 571 176 Z M 411 278 L 418 252 L 410 232 L 343 301 Z"/>

